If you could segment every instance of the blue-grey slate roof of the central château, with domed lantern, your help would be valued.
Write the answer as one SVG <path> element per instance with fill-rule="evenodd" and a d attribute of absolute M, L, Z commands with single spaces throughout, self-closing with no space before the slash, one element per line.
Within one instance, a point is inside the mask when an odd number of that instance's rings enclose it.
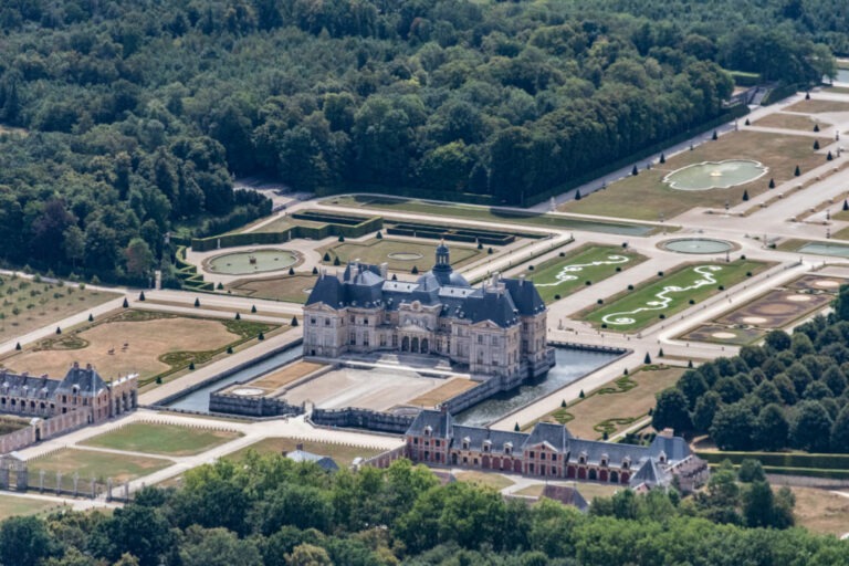
<path fill-rule="evenodd" d="M 322 274 L 306 304 L 397 311 L 401 304 L 419 301 L 427 306 L 441 305 L 440 316 L 467 319 L 472 324 L 492 321 L 501 327 L 517 324 L 520 316 L 545 310 L 545 303 L 530 281 L 500 280 L 501 290 L 471 287 L 451 269 L 444 244 L 437 249 L 437 265 L 416 283 L 386 281 L 377 265 L 349 263 L 340 275 Z M 441 263 L 440 254 L 444 258 Z"/>

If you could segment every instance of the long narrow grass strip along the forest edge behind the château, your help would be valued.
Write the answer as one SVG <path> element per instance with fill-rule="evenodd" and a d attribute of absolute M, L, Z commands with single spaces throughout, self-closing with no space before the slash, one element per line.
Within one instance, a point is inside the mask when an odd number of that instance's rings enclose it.
<path fill-rule="evenodd" d="M 352 208 L 375 208 L 382 210 L 396 210 L 398 212 L 413 212 L 438 217 L 464 218 L 480 220 L 493 224 L 524 224 L 538 228 L 556 228 L 559 230 L 586 230 L 588 232 L 605 232 L 622 235 L 648 235 L 657 231 L 657 227 L 628 224 L 617 222 L 598 222 L 558 214 L 539 214 L 533 212 L 515 212 L 501 209 L 475 207 L 472 205 L 457 205 L 452 202 L 430 202 L 417 199 L 403 199 L 394 197 L 350 196 L 334 197 L 322 201 L 323 205 L 346 206 Z"/>

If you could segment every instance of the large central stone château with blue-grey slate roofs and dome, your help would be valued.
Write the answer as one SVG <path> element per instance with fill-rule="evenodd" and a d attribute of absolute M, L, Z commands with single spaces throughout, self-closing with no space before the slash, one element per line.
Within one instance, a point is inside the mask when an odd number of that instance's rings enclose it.
<path fill-rule="evenodd" d="M 304 307 L 304 355 L 395 352 L 442 356 L 501 389 L 554 365 L 546 307 L 534 284 L 495 274 L 472 287 L 437 248 L 433 269 L 413 282 L 390 281 L 386 264 L 353 262 L 322 273 Z"/>

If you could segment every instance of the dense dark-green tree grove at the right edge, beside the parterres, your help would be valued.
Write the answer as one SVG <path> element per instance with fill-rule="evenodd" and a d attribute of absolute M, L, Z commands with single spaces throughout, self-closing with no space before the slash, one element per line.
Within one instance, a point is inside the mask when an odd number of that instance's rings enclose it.
<path fill-rule="evenodd" d="M 658 396 L 654 427 L 709 433 L 724 450 L 849 452 L 849 286 L 828 318 L 767 334 L 681 376 Z M 659 429 L 660 430 L 660 429 Z"/>

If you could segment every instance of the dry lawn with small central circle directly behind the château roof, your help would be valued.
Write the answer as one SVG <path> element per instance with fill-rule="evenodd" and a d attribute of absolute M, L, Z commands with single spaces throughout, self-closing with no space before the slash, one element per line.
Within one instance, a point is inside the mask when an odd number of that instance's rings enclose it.
<path fill-rule="evenodd" d="M 413 268 L 417 268 L 420 273 L 424 273 L 436 262 L 437 245 L 439 245 L 439 243 L 431 243 L 430 241 L 408 241 L 384 238 L 382 240 L 374 239 L 361 243 L 336 243 L 319 248 L 317 251 L 322 255 L 325 253 L 329 254 L 331 261 L 324 262 L 326 265 L 332 265 L 333 261 L 338 258 L 343 265 L 354 260 L 359 260 L 364 263 L 374 265 L 379 265 L 380 263 L 386 262 L 392 271 L 409 272 Z M 453 242 L 450 244 L 450 249 L 451 265 L 454 269 L 486 253 L 485 250 L 478 250 L 474 247 L 460 245 Z M 410 259 L 396 259 L 390 256 L 400 253 L 410 254 Z"/>

